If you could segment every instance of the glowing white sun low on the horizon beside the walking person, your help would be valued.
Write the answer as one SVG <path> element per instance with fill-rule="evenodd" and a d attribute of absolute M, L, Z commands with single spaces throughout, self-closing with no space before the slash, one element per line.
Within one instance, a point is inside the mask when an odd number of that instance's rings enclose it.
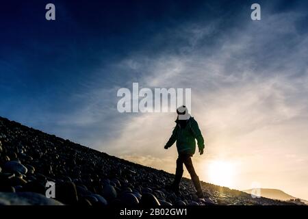
<path fill-rule="evenodd" d="M 214 161 L 208 168 L 209 182 L 215 185 L 231 187 L 234 178 L 234 166 L 227 161 Z"/>

